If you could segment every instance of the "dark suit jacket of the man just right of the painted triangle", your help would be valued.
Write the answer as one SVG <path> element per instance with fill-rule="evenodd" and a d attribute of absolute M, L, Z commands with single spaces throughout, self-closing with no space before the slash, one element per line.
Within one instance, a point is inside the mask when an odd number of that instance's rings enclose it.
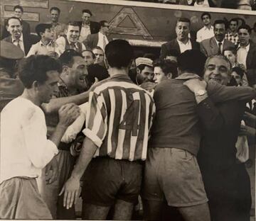
<path fill-rule="evenodd" d="M 191 40 L 192 49 L 199 50 L 199 44 L 198 42 Z M 170 42 L 166 42 L 163 45 L 161 45 L 161 52 L 160 52 L 160 59 L 164 59 L 170 50 L 176 50 L 178 54 L 181 54 L 181 50 L 178 45 L 178 41 L 175 38 L 174 40 L 171 40 Z"/>

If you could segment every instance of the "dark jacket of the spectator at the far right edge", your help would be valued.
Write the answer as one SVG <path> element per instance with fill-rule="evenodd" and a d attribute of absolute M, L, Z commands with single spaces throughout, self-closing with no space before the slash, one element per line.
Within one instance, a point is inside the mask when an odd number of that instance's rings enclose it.
<path fill-rule="evenodd" d="M 250 41 L 249 51 L 246 57 L 247 79 L 250 86 L 256 84 L 256 44 Z"/>

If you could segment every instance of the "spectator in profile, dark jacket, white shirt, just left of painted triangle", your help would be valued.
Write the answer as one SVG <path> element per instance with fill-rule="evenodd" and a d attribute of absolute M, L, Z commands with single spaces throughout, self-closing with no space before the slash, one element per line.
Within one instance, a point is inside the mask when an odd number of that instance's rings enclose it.
<path fill-rule="evenodd" d="M 85 47 L 88 49 L 92 49 L 96 46 L 102 48 L 105 51 L 105 46 L 108 42 L 112 40 L 112 38 L 107 36 L 110 25 L 107 21 L 100 21 L 100 31 L 97 34 L 88 35 L 86 40 L 83 42 Z"/>

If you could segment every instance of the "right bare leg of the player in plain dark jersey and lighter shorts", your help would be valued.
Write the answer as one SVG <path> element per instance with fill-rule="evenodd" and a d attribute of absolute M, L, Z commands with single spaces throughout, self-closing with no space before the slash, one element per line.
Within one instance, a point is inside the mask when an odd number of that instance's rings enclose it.
<path fill-rule="evenodd" d="M 208 203 L 178 208 L 186 221 L 210 221 Z"/>

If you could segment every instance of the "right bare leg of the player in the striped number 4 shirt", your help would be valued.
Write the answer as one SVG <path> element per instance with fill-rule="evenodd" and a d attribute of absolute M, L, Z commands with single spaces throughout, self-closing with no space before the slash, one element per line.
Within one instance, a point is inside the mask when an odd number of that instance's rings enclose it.
<path fill-rule="evenodd" d="M 128 203 L 124 200 L 117 200 L 114 205 L 113 220 L 131 220 L 133 208 L 133 203 Z"/>

